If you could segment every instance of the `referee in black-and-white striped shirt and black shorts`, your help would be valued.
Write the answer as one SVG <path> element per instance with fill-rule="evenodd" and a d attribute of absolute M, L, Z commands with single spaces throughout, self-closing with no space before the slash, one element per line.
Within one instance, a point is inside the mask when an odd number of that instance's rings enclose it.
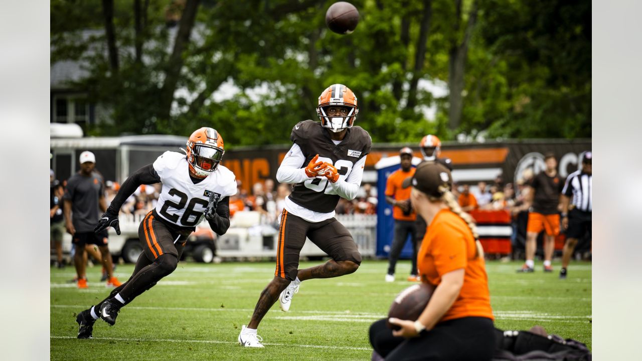
<path fill-rule="evenodd" d="M 593 154 L 584 152 L 582 169 L 569 174 L 562 189 L 562 229 L 566 229 L 566 243 L 562 253 L 560 278 L 566 278 L 566 267 L 571 260 L 578 238 L 591 231 L 593 209 Z"/>

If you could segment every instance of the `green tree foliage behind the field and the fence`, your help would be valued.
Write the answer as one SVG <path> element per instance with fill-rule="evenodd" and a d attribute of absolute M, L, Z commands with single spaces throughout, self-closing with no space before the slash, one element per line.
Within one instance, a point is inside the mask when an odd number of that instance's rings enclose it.
<path fill-rule="evenodd" d="M 82 62 L 89 76 L 70 86 L 110 110 L 112 121 L 94 125 L 89 134 L 187 136 L 210 125 L 231 146 L 288 143 L 295 123 L 317 119 L 320 92 L 342 83 L 358 97 L 356 124 L 376 142 L 414 143 L 428 133 L 453 139 L 482 130 L 490 137 L 591 136 L 588 1 L 478 0 L 457 129 L 448 127 L 447 98 L 419 89 L 418 106 L 406 106 L 422 0 L 353 1 L 361 21 L 351 35 L 325 28 L 325 9 L 333 0 L 202 1 L 169 118 L 162 115 L 168 105 L 159 94 L 177 27 L 168 26 L 165 2 L 141 3 L 149 3 L 139 34 L 142 63 L 134 52 L 132 1 L 114 3 L 117 71 L 107 59 L 100 2 L 51 3 L 51 61 Z M 462 39 L 465 26 L 453 27 L 453 1 L 427 3 L 433 15 L 420 75 L 444 83 L 449 48 Z M 465 24 L 473 0 L 463 4 L 458 21 Z M 214 101 L 221 84 L 233 84 L 238 93 Z M 426 118 L 426 107 L 437 108 L 435 119 Z"/>

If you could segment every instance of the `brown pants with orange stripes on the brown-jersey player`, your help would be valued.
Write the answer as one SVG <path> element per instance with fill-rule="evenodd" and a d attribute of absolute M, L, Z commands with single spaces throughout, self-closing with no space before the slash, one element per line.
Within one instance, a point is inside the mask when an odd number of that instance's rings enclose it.
<path fill-rule="evenodd" d="M 336 218 L 322 222 L 308 222 L 283 209 L 275 276 L 290 281 L 297 278 L 299 254 L 306 243 L 306 236 L 334 261 L 352 261 L 358 265 L 361 264 L 361 254 L 352 234 Z"/>

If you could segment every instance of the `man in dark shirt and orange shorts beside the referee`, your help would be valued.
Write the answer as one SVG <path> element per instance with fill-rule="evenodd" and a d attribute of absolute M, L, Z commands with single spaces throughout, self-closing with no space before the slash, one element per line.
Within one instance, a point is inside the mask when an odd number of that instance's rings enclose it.
<path fill-rule="evenodd" d="M 560 233 L 560 216 L 557 205 L 564 180 L 557 174 L 555 155 L 544 155 L 546 170 L 536 175 L 530 184 L 532 188 L 529 197 L 531 201 L 526 227 L 526 263 L 517 272 L 533 272 L 535 250 L 537 249 L 537 234 L 544 234 L 544 272 L 553 272 L 551 258 L 555 251 L 555 236 Z"/>

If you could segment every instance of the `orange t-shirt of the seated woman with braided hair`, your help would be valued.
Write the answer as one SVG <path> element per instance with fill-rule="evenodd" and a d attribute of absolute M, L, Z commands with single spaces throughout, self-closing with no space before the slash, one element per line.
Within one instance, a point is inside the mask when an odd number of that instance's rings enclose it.
<path fill-rule="evenodd" d="M 494 319 L 483 257 L 475 258 L 475 240 L 466 222 L 450 209 L 442 209 L 426 228 L 417 254 L 422 282 L 441 283 L 441 276 L 464 269 L 464 285 L 455 303 L 439 322 L 462 317 Z"/>

